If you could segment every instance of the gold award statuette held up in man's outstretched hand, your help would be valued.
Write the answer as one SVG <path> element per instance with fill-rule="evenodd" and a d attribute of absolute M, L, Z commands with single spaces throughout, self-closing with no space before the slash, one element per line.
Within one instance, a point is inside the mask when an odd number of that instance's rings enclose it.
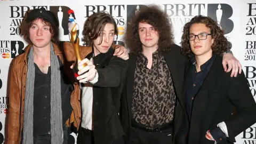
<path fill-rule="evenodd" d="M 75 62 L 75 65 L 74 65 L 74 68 L 73 68 L 73 71 L 74 71 L 74 74 L 75 74 L 75 77 L 78 76 L 77 72 L 81 69 L 83 69 L 84 67 L 87 66 L 87 63 L 84 63 L 82 66 L 79 66 L 78 67 L 78 63 L 80 61 L 82 61 L 81 59 L 81 55 L 79 53 L 79 37 L 77 37 L 77 30 L 76 30 L 76 25 L 77 23 L 74 25 L 74 27 L 72 28 L 71 30 L 71 34 L 70 34 L 70 41 L 74 47 L 74 50 L 75 50 L 75 56 L 76 56 L 76 62 Z M 77 41 L 76 41 L 76 38 L 77 38 Z M 75 43 L 76 41 L 76 43 Z"/>

